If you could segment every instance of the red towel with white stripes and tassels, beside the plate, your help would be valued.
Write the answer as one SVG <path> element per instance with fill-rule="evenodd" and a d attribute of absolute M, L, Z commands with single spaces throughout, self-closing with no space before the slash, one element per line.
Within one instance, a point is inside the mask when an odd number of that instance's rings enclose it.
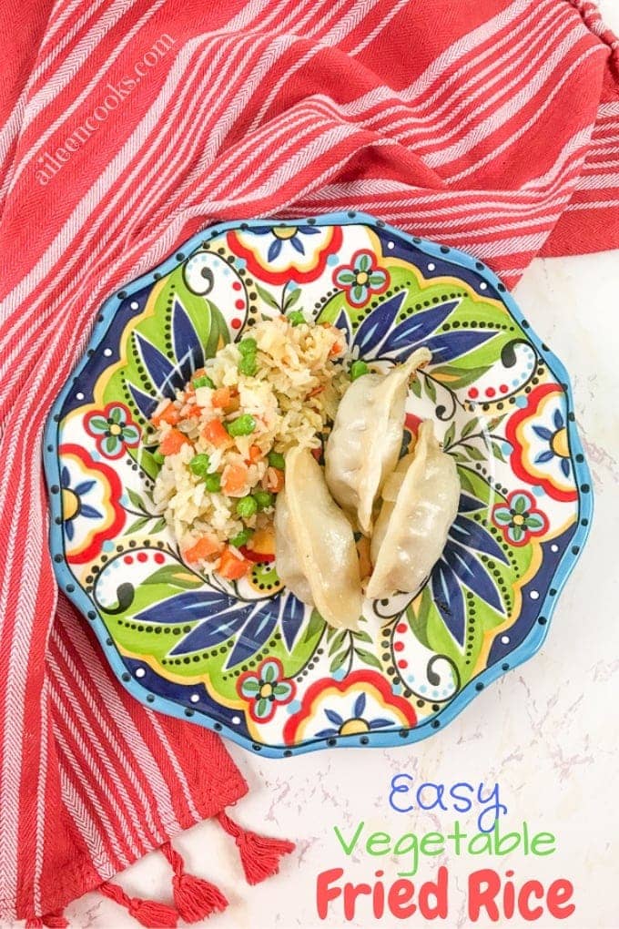
<path fill-rule="evenodd" d="M 617 245 L 618 43 L 583 0 L 5 0 L 0 18 L 0 919 L 159 846 L 198 918 L 222 900 L 166 841 L 245 784 L 219 739 L 124 694 L 58 596 L 50 403 L 105 296 L 215 219 L 364 210 L 508 283 L 540 252 Z"/>

